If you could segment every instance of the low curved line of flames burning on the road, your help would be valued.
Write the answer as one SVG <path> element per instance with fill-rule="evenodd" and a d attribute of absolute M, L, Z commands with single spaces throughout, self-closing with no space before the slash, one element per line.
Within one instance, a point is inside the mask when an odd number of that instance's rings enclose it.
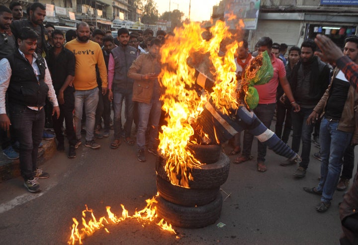
<path fill-rule="evenodd" d="M 157 194 L 158 196 L 159 194 Z M 68 241 L 68 244 L 83 244 L 82 240 L 88 236 L 91 236 L 94 232 L 104 229 L 107 233 L 109 233 L 108 229 L 106 228 L 106 225 L 110 224 L 119 224 L 120 222 L 125 221 L 126 219 L 138 219 L 143 221 L 155 221 L 158 218 L 158 215 L 156 213 L 156 207 L 155 203 L 156 197 L 154 196 L 151 199 L 147 199 L 147 207 L 140 211 L 135 211 L 134 215 L 130 216 L 128 215 L 128 211 L 124 208 L 124 206 L 121 204 L 122 207 L 122 214 L 121 216 L 117 217 L 115 214 L 113 214 L 110 211 L 110 207 L 107 206 L 107 215 L 108 217 L 100 217 L 98 220 L 95 218 L 93 214 L 93 210 L 89 209 L 86 205 L 86 210 L 82 211 L 82 228 L 79 228 L 80 223 L 76 220 L 76 218 L 72 218 L 74 224 L 71 228 L 71 237 Z M 86 220 L 86 216 L 89 217 L 89 221 Z M 156 223 L 162 230 L 168 231 L 171 234 L 177 234 L 175 230 L 172 228 L 171 224 L 168 224 L 164 219 L 161 219 L 158 223 Z M 177 238 L 179 238 L 177 236 Z"/>

